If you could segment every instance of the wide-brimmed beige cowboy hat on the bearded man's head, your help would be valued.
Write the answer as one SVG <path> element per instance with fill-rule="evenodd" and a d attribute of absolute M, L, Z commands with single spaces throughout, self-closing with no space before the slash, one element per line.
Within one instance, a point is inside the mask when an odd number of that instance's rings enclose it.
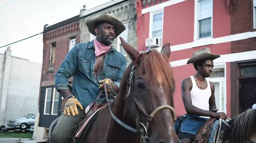
<path fill-rule="evenodd" d="M 119 34 L 121 34 L 125 30 L 124 24 L 118 19 L 116 19 L 116 16 L 114 14 L 101 13 L 89 18 L 85 23 L 86 26 L 88 27 L 89 32 L 94 36 L 96 36 L 95 26 L 99 22 L 108 22 L 116 27 L 116 35 L 114 38 L 116 38 Z"/>

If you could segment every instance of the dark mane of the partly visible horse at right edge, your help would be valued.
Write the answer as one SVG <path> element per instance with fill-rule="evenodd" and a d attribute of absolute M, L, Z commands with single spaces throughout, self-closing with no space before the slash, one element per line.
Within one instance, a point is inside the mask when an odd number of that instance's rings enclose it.
<path fill-rule="evenodd" d="M 231 139 L 234 143 L 245 142 L 250 139 L 256 130 L 256 110 L 248 109 L 240 115 L 233 117 L 233 122 L 231 124 L 231 128 L 224 129 L 226 134 L 224 136 L 225 139 Z M 229 135 L 228 135 L 229 134 Z"/>

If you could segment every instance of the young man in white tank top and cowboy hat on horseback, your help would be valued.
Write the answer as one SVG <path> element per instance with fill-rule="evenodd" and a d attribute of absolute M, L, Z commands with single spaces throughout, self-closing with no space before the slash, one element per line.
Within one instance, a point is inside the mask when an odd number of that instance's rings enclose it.
<path fill-rule="evenodd" d="M 188 114 L 178 121 L 178 137 L 181 143 L 192 142 L 196 133 L 209 117 L 226 119 L 224 112 L 218 112 L 215 105 L 214 85 L 205 78 L 212 74 L 213 61 L 220 55 L 212 55 L 209 48 L 193 53 L 187 64 L 194 64 L 196 74 L 183 79 L 182 100 Z"/>

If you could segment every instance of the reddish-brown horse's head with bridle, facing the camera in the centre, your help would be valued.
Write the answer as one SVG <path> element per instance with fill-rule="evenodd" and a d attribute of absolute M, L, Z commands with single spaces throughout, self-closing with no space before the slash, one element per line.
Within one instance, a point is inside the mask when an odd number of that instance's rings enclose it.
<path fill-rule="evenodd" d="M 174 79 L 168 62 L 170 43 L 163 46 L 161 53 L 156 50 L 139 53 L 120 39 L 132 59 L 118 93 L 123 94 L 124 117 L 133 120 L 140 135 L 150 143 L 178 142 L 172 108 Z"/>

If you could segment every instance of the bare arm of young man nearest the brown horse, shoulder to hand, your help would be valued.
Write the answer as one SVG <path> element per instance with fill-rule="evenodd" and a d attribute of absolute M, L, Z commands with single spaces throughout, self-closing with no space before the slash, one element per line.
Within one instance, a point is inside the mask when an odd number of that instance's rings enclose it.
<path fill-rule="evenodd" d="M 205 117 L 219 117 L 219 113 L 203 110 L 192 105 L 190 90 L 192 89 L 192 81 L 190 78 L 184 79 L 181 83 L 182 100 L 188 114 Z M 215 99 L 214 99 L 215 100 Z M 215 104 L 215 102 L 214 102 Z"/>

